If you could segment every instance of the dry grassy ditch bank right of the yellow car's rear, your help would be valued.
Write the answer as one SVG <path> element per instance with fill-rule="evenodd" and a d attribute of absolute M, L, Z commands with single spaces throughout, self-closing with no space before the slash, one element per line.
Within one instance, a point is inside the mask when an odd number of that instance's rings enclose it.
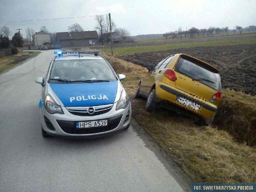
<path fill-rule="evenodd" d="M 213 125 L 227 130 L 239 142 L 256 146 L 256 96 L 224 90 Z"/>

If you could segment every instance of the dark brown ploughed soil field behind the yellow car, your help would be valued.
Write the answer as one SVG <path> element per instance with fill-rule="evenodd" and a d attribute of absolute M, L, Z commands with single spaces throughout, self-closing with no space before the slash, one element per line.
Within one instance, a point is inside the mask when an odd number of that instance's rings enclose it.
<path fill-rule="evenodd" d="M 189 54 L 218 68 L 222 88 L 256 95 L 256 44 L 172 49 L 122 55 L 119 58 L 146 67 L 177 53 Z"/>

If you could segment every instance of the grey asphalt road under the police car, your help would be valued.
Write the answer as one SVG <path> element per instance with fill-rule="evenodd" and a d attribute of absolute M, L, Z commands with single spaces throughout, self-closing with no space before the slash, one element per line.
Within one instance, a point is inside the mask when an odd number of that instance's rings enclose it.
<path fill-rule="evenodd" d="M 38 102 L 53 50 L 0 75 L 0 192 L 183 191 L 132 127 L 104 138 L 42 138 Z"/>

